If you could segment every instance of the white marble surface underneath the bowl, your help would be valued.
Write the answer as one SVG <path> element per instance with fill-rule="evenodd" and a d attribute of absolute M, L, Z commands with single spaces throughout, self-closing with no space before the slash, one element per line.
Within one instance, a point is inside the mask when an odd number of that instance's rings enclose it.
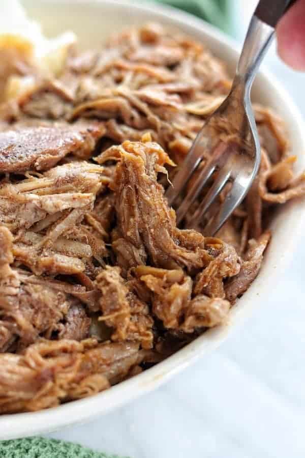
<path fill-rule="evenodd" d="M 305 76 L 274 49 L 267 66 L 305 115 Z M 304 458 L 304 260 L 305 243 L 219 350 L 132 404 L 50 437 L 133 458 Z"/>

